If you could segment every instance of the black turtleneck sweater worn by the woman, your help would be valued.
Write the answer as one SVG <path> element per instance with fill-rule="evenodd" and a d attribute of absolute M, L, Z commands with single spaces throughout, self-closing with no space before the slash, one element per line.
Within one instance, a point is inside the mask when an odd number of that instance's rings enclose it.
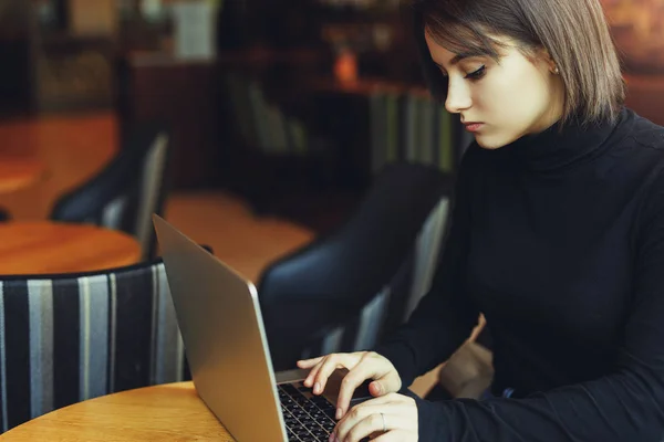
<path fill-rule="evenodd" d="M 664 128 L 623 109 L 473 144 L 430 293 L 377 351 L 408 386 L 479 313 L 498 397 L 418 400 L 421 441 L 664 440 Z"/>

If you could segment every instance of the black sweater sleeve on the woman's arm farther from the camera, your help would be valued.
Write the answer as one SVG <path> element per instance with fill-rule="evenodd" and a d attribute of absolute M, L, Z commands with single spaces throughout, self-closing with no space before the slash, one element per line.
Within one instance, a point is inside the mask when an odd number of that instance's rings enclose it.
<path fill-rule="evenodd" d="M 479 312 L 464 290 L 465 262 L 470 218 L 471 145 L 461 161 L 456 181 L 450 223 L 432 288 L 408 318 L 376 352 L 395 366 L 402 383 L 413 380 L 449 356 L 470 336 Z"/>

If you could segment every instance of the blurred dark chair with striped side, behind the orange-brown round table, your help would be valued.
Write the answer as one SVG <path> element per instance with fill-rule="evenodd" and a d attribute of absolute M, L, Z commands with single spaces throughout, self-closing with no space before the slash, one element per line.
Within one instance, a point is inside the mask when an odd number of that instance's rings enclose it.
<path fill-rule="evenodd" d="M 153 257 L 156 239 L 151 217 L 163 212 L 169 145 L 162 125 L 141 124 L 100 173 L 59 198 L 50 218 L 125 231 L 138 240 L 144 259 Z"/>

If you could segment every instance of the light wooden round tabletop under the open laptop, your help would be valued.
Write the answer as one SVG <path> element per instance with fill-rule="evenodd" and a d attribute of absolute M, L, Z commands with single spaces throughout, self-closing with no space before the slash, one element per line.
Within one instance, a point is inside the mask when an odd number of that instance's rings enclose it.
<path fill-rule="evenodd" d="M 52 411 L 19 425 L 3 441 L 235 441 L 179 382 L 108 394 Z"/>

